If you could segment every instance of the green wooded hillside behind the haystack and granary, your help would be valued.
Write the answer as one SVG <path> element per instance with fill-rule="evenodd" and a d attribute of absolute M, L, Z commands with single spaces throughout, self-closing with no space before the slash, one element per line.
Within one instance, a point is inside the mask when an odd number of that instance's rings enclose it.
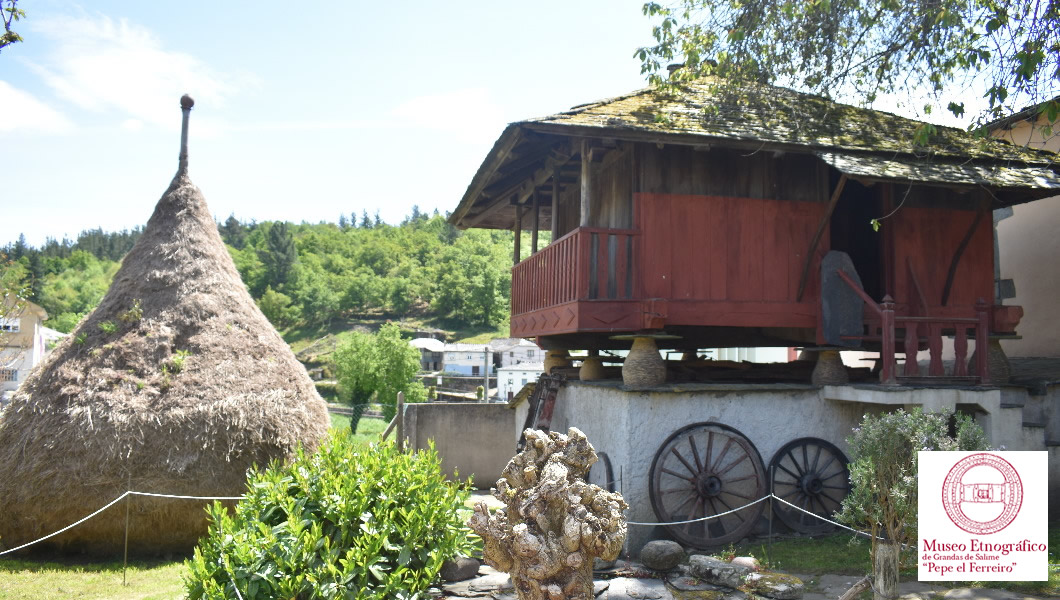
<path fill-rule="evenodd" d="M 461 232 L 419 210 L 400 226 L 353 224 L 230 215 L 217 229 L 250 296 L 278 329 L 379 315 L 437 318 L 445 327 L 495 327 L 507 318 L 510 232 Z M 49 327 L 69 331 L 103 298 L 141 233 L 91 229 L 39 248 L 16 240 L 0 247 L 8 257 L 0 270 L 48 311 Z"/>

